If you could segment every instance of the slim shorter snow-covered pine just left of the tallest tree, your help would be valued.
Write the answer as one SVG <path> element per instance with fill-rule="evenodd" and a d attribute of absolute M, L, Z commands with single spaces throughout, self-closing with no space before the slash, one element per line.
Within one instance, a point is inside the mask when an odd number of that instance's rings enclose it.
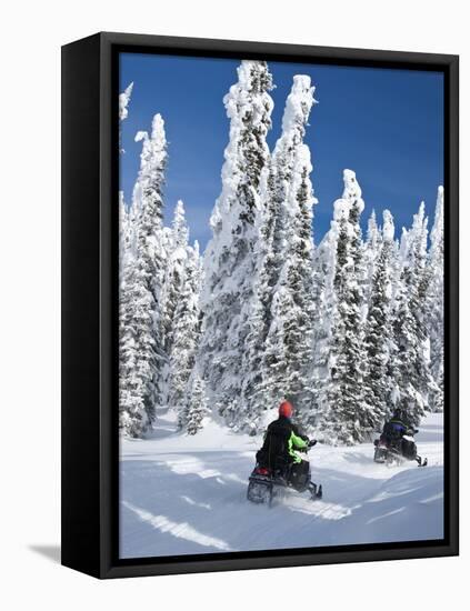
<path fill-rule="evenodd" d="M 202 267 L 199 243 L 196 241 L 194 248 L 188 247 L 187 250 L 182 289 L 173 317 L 168 381 L 168 404 L 179 409 L 183 405 L 188 381 L 194 368 L 201 330 L 199 293 Z M 190 403 L 190 395 L 186 402 Z"/>

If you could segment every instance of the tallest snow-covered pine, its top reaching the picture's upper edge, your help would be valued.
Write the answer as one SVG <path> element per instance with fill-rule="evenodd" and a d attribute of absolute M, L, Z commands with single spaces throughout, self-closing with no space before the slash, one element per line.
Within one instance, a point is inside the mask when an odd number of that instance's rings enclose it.
<path fill-rule="evenodd" d="M 266 189 L 266 136 L 273 108 L 271 74 L 263 61 L 242 61 L 238 82 L 224 97 L 230 141 L 224 151 L 222 192 L 204 254 L 199 361 L 213 403 L 230 424 L 244 417 L 242 359 L 257 271 L 258 214 Z M 232 405 L 232 408 L 229 408 Z"/>

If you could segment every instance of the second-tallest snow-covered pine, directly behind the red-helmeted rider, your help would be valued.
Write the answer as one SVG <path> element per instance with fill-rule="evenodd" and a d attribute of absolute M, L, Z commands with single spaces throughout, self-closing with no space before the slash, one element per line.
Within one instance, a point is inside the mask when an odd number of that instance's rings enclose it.
<path fill-rule="evenodd" d="M 303 137 L 313 91 L 310 77 L 293 78 L 282 134 L 270 163 L 261 216 L 261 266 L 243 360 L 243 395 L 252 427 L 263 410 L 283 397 L 300 409 L 311 390 L 312 207 L 317 200 Z"/>

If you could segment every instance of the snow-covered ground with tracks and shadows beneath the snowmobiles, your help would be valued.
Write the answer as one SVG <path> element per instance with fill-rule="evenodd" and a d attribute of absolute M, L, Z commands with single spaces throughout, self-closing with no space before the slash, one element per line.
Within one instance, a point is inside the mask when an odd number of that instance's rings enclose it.
<path fill-rule="evenodd" d="M 427 468 L 376 464 L 370 443 L 318 444 L 309 457 L 323 499 L 288 491 L 271 509 L 246 498 L 260 438 L 214 422 L 189 437 L 171 412 L 158 418 L 152 438 L 121 441 L 121 558 L 443 537 L 441 414 L 416 438 Z"/>

